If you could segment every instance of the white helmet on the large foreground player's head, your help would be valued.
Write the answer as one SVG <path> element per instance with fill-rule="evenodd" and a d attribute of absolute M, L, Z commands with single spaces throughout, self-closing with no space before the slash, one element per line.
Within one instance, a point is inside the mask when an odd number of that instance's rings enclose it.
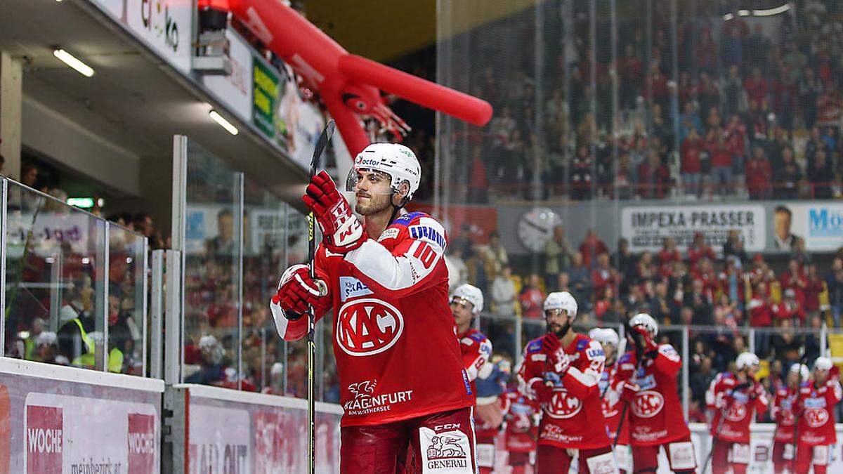
<path fill-rule="evenodd" d="M 392 178 L 390 187 L 393 192 L 400 192 L 401 184 L 407 183 L 410 191 L 407 201 L 419 188 L 421 165 L 416 154 L 410 148 L 398 143 L 372 143 L 357 154 L 352 169 L 348 171 L 346 191 L 354 191 L 357 185 L 357 170 L 381 171 Z"/>

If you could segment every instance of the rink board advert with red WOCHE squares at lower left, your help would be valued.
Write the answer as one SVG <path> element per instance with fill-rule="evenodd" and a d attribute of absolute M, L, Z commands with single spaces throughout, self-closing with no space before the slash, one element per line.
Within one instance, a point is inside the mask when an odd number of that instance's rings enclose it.
<path fill-rule="evenodd" d="M 150 391 L 142 387 L 153 381 L 140 377 L 2 365 L 38 375 L 0 372 L 0 472 L 160 471 L 163 383 Z"/>

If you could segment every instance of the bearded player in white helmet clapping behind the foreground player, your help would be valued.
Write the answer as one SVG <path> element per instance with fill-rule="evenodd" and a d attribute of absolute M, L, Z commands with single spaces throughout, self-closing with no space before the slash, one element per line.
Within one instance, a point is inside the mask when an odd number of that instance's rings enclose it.
<path fill-rule="evenodd" d="M 614 472 L 598 386 L 603 348 L 573 331 L 577 301 L 570 293 L 551 293 L 544 306 L 548 332 L 524 347 L 518 370 L 521 391 L 542 408 L 536 469 L 567 472 L 579 451 L 577 472 Z"/>

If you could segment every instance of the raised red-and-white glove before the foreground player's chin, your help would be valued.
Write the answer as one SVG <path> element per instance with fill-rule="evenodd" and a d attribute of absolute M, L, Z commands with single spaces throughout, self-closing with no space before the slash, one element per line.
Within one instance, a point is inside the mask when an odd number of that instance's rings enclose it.
<path fill-rule="evenodd" d="M 328 250 L 344 254 L 357 249 L 368 239 L 362 224 L 354 217 L 352 207 L 336 190 L 334 180 L 325 171 L 319 171 L 310 180 L 302 201 L 313 210 Z"/>

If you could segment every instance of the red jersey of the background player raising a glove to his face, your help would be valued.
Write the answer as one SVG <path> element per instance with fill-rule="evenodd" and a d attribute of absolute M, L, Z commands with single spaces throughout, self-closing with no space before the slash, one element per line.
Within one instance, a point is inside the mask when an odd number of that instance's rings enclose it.
<path fill-rule="evenodd" d="M 620 356 L 618 377 L 636 383 L 639 389 L 627 410 L 633 446 L 665 444 L 690 436 L 676 385 L 681 368 L 682 358 L 670 344 L 660 345 L 656 357 L 645 358 L 641 366 L 634 352 Z"/>

